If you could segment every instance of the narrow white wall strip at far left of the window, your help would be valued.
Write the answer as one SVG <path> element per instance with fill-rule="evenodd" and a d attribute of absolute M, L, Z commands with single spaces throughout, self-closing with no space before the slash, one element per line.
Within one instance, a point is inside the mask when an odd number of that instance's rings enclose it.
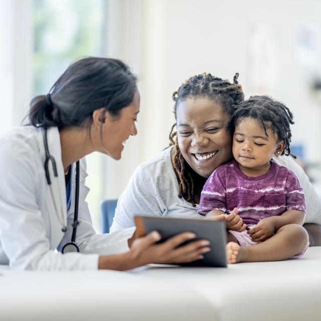
<path fill-rule="evenodd" d="M 0 132 L 18 126 L 32 93 L 31 1 L 0 0 Z"/>

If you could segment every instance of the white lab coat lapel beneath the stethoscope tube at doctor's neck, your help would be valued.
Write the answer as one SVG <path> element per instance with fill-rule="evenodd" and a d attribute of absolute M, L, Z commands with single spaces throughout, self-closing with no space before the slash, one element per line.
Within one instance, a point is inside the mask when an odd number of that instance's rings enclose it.
<path fill-rule="evenodd" d="M 45 162 L 45 147 L 43 142 L 43 131 L 41 130 L 41 151 L 44 155 Z M 65 185 L 65 175 L 64 168 L 61 161 L 61 145 L 60 145 L 60 135 L 57 127 L 52 127 L 47 130 L 48 139 L 48 149 L 49 153 L 55 158 L 58 180 L 55 178 L 51 162 L 49 165 L 49 173 L 52 182 L 52 190 L 54 200 L 51 194 L 50 187 L 46 184 L 46 211 L 48 212 L 48 217 L 50 219 L 51 227 L 51 246 L 55 249 L 61 239 L 64 236 L 62 231 L 62 223 L 64 226 L 67 225 L 67 206 L 66 206 L 66 185 Z M 46 182 L 47 183 L 47 182 Z M 56 206 L 55 206 L 56 205 Z M 58 213 L 56 213 L 56 211 Z"/>

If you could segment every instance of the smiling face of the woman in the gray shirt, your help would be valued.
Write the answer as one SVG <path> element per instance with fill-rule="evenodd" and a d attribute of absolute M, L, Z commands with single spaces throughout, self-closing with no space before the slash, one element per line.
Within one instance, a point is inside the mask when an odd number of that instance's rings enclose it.
<path fill-rule="evenodd" d="M 232 137 L 227 131 L 229 115 L 206 97 L 187 98 L 176 110 L 178 144 L 189 166 L 208 178 L 232 158 Z"/>

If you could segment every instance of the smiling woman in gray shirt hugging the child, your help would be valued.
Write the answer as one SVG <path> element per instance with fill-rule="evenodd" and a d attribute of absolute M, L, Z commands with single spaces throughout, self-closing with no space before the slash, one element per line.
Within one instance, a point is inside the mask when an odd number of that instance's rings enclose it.
<path fill-rule="evenodd" d="M 134 226 L 135 215 L 199 218 L 207 178 L 232 158 L 228 121 L 244 99 L 237 78 L 230 83 L 200 74 L 173 93 L 171 146 L 136 169 L 119 198 L 111 231 Z M 321 224 L 321 200 L 303 170 L 292 157 L 280 155 L 275 162 L 298 177 L 306 196 L 305 222 Z M 321 234 L 316 238 L 321 244 Z"/>

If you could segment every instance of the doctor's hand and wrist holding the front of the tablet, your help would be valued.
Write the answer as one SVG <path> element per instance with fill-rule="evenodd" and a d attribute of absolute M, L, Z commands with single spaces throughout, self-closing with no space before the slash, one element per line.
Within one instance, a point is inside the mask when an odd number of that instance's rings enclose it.
<path fill-rule="evenodd" d="M 195 237 L 194 233 L 185 232 L 173 236 L 164 243 L 155 244 L 161 239 L 161 236 L 153 231 L 144 237 L 133 240 L 130 251 L 126 253 L 99 257 L 98 267 L 128 270 L 148 263 L 177 264 L 203 259 L 203 254 L 211 250 L 209 241 L 197 240 L 180 246 Z"/>

